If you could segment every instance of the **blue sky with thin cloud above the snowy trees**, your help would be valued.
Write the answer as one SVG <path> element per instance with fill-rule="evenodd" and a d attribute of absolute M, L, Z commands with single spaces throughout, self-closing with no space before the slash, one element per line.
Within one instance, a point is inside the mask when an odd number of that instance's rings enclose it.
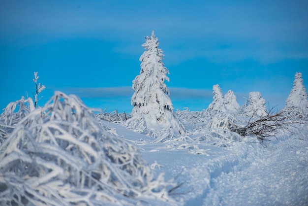
<path fill-rule="evenodd" d="M 60 90 L 129 112 L 154 30 L 176 109 L 207 108 L 214 84 L 241 105 L 260 91 L 281 108 L 296 71 L 308 88 L 307 10 L 307 0 L 0 0 L 0 107 L 31 96 L 37 71 L 39 105 Z"/>

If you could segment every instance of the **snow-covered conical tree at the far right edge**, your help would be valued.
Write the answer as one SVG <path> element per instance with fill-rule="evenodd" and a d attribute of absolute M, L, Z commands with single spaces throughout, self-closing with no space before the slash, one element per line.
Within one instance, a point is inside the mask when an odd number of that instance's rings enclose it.
<path fill-rule="evenodd" d="M 293 88 L 285 101 L 282 112 L 291 117 L 308 117 L 307 91 L 304 86 L 302 73 L 296 72 L 294 76 Z"/>

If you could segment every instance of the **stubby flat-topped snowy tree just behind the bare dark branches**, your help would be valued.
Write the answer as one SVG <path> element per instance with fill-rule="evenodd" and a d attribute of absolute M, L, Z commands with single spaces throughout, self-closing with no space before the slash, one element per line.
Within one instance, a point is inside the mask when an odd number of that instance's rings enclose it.
<path fill-rule="evenodd" d="M 267 114 L 265 100 L 260 92 L 250 92 L 248 106 L 244 108 L 244 113 L 248 117 L 257 117 Z"/>

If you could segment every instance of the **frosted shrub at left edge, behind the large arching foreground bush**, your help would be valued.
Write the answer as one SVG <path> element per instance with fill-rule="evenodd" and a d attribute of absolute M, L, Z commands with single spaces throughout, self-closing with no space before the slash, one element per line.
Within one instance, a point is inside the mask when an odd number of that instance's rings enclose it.
<path fill-rule="evenodd" d="M 18 101 L 7 104 L 4 112 L 0 115 L 0 145 L 13 131 L 15 125 L 34 109 L 31 98 L 22 97 Z"/>

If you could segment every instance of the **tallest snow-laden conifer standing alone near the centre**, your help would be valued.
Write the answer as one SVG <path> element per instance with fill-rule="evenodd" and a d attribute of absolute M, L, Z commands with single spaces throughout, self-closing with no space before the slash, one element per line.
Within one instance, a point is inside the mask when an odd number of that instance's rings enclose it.
<path fill-rule="evenodd" d="M 131 112 L 132 120 L 145 121 L 146 128 L 159 131 L 172 128 L 180 134 L 185 129 L 173 112 L 173 104 L 169 98 L 169 90 L 164 83 L 169 81 L 169 70 L 165 68 L 163 51 L 158 48 L 158 38 L 152 31 L 151 37 L 146 37 L 142 44 L 146 50 L 140 57 L 140 74 L 133 80 L 132 88 L 135 93 L 131 97 L 134 106 Z M 130 120 L 130 121 L 132 121 Z"/>

